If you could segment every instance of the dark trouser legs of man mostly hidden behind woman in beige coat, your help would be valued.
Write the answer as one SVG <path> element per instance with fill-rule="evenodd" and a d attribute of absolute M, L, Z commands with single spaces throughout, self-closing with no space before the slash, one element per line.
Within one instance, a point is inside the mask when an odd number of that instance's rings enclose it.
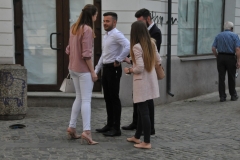
<path fill-rule="evenodd" d="M 149 109 L 149 116 L 151 122 L 151 129 L 154 130 L 154 102 L 153 99 L 147 100 L 148 109 Z M 137 104 L 133 104 L 133 124 L 137 126 L 138 124 L 138 107 Z"/>

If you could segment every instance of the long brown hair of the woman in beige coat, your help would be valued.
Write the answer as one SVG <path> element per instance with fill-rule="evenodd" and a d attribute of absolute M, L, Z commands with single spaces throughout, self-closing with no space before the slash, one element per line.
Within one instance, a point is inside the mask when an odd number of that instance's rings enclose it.
<path fill-rule="evenodd" d="M 140 43 L 143 50 L 144 67 L 148 72 L 150 72 L 155 66 L 155 40 L 150 37 L 147 26 L 142 21 L 136 21 L 132 24 L 130 35 L 130 55 L 132 61 L 136 63 L 136 59 L 133 53 L 133 46 L 137 43 Z"/>

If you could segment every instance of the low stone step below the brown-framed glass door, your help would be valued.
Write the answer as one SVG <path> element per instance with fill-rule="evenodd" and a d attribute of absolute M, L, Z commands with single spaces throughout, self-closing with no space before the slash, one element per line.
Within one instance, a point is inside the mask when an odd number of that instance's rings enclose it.
<path fill-rule="evenodd" d="M 64 93 L 64 92 L 28 92 L 28 97 L 64 97 L 64 98 L 74 98 L 75 93 Z M 93 92 L 92 98 L 102 99 L 103 94 L 101 92 Z"/>

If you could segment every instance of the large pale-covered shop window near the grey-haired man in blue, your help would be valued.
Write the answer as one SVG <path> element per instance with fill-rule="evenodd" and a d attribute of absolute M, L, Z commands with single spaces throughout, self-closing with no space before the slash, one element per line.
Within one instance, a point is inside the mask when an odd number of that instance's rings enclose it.
<path fill-rule="evenodd" d="M 224 0 L 178 2 L 178 56 L 211 54 L 223 27 Z"/>

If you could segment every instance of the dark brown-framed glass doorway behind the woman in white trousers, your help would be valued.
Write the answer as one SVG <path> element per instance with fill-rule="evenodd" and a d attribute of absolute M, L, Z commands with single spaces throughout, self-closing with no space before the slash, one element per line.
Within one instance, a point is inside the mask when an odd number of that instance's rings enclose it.
<path fill-rule="evenodd" d="M 14 0 L 15 58 L 27 69 L 28 91 L 59 91 L 68 75 L 69 28 L 86 4 L 101 15 L 99 0 Z M 101 56 L 101 16 L 95 32 L 94 66 Z M 101 91 L 100 81 L 93 91 Z"/>

